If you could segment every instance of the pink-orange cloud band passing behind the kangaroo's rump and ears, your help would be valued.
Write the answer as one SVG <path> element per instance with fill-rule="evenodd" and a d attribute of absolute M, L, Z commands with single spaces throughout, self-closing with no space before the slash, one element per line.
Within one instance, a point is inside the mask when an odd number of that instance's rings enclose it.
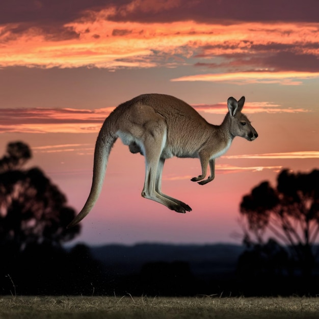
<path fill-rule="evenodd" d="M 227 103 L 193 104 L 198 112 L 226 114 Z M 113 107 L 95 110 L 71 108 L 2 109 L 0 132 L 98 132 Z M 301 113 L 301 108 L 283 108 L 271 102 L 246 102 L 245 113 Z"/>

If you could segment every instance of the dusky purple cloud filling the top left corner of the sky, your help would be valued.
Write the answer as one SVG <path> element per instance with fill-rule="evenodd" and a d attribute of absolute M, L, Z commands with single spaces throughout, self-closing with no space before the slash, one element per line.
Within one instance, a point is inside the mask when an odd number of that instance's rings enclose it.
<path fill-rule="evenodd" d="M 86 16 L 87 10 L 99 11 L 117 3 L 128 1 L 108 0 L 15 0 L 0 2 L 0 26 L 10 33 L 3 41 L 15 39 L 33 29 L 47 40 L 59 41 L 78 38 L 80 35 L 64 24 Z M 87 17 L 89 18 L 89 17 Z"/>

